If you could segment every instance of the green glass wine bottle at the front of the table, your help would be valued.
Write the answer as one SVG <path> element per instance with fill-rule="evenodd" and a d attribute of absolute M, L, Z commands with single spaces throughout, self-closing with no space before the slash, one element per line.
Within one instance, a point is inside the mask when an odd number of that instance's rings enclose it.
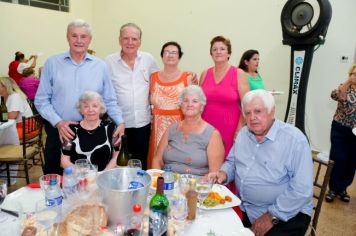
<path fill-rule="evenodd" d="M 164 178 L 158 177 L 157 191 L 150 201 L 149 236 L 166 236 L 169 201 L 163 193 Z"/>

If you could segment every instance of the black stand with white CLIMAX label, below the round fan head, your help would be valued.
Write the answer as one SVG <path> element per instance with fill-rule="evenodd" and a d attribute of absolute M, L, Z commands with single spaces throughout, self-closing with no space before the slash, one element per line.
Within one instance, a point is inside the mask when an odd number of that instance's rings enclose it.
<path fill-rule="evenodd" d="M 292 45 L 287 112 L 284 121 L 304 134 L 305 101 L 315 45 Z"/>

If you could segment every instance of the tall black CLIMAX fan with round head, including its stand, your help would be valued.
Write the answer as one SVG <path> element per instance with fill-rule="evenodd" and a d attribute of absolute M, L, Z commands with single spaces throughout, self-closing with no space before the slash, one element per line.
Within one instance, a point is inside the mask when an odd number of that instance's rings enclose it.
<path fill-rule="evenodd" d="M 291 69 L 285 121 L 303 133 L 305 102 L 314 47 L 324 44 L 331 20 L 328 0 L 288 0 L 281 14 L 283 44 L 291 46 Z"/>

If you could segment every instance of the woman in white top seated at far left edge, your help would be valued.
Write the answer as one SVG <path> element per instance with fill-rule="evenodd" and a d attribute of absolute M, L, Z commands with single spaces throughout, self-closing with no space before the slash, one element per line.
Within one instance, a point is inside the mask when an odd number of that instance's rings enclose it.
<path fill-rule="evenodd" d="M 8 118 L 16 120 L 19 139 L 22 140 L 22 117 L 33 116 L 26 95 L 16 82 L 9 77 L 0 77 L 0 96 L 4 97 Z"/>

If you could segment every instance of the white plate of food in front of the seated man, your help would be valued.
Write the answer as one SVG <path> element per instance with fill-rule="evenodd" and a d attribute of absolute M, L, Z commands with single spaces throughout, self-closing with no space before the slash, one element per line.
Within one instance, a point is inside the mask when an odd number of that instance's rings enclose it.
<path fill-rule="evenodd" d="M 203 202 L 198 203 L 198 207 L 204 210 L 216 210 L 231 208 L 240 204 L 241 200 L 226 186 L 214 184 Z"/>

